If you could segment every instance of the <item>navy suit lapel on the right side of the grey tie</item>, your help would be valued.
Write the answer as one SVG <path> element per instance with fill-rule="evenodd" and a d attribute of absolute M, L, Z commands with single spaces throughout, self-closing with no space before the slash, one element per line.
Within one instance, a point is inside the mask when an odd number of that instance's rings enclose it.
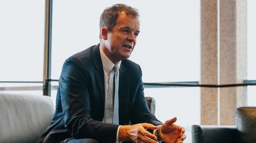
<path fill-rule="evenodd" d="M 121 63 L 119 69 L 119 87 L 118 87 L 118 98 L 119 98 L 119 123 L 125 124 L 127 119 L 127 112 L 129 106 L 131 76 L 126 72 L 125 67 Z M 123 120 L 122 120 L 123 119 Z"/>

